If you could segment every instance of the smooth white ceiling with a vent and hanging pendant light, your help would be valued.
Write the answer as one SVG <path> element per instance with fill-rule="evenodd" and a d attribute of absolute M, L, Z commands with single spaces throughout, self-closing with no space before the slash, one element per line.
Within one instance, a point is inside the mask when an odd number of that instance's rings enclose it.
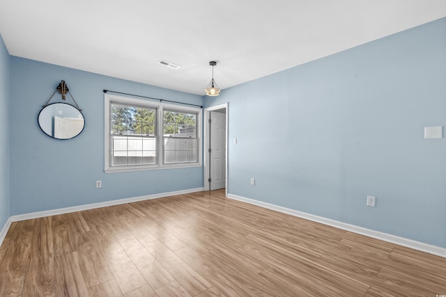
<path fill-rule="evenodd" d="M 13 56 L 197 95 L 209 61 L 224 89 L 441 17 L 446 0 L 0 0 Z"/>

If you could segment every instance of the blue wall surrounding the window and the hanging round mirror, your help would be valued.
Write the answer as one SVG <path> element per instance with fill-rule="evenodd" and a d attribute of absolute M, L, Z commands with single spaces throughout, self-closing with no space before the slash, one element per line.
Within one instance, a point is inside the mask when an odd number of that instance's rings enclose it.
<path fill-rule="evenodd" d="M 10 63 L 10 215 L 203 186 L 201 167 L 105 174 L 102 90 L 192 104 L 202 104 L 201 96 L 15 56 Z M 49 138 L 37 123 L 61 80 L 86 120 L 82 134 L 68 141 Z M 51 102 L 62 102 L 61 95 Z M 67 102 L 72 104 L 69 95 Z M 96 180 L 102 188 L 95 188 Z"/>

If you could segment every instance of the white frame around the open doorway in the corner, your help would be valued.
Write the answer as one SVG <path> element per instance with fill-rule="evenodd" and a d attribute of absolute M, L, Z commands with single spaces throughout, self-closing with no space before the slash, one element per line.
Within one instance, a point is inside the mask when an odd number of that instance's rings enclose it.
<path fill-rule="evenodd" d="M 209 131 L 209 119 L 210 119 L 210 111 L 217 111 L 219 109 L 225 109 L 226 110 L 226 152 L 225 152 L 225 157 L 226 157 L 226 161 L 224 162 L 224 168 L 225 168 L 225 190 L 224 190 L 224 195 L 227 197 L 228 196 L 228 127 L 229 127 L 229 122 L 228 122 L 228 114 L 229 114 L 229 104 L 226 102 L 224 104 L 220 104 L 220 105 L 216 105 L 216 106 L 210 106 L 207 107 L 206 109 L 203 109 L 203 190 L 204 191 L 209 191 L 209 166 L 210 166 L 210 157 L 209 157 L 209 152 L 208 152 L 208 145 L 206 145 L 209 141 L 209 137 L 210 137 L 210 131 Z"/>

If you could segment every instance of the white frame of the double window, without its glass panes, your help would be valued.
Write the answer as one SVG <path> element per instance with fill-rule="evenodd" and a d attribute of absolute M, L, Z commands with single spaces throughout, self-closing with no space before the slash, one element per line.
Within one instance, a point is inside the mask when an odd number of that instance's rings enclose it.
<path fill-rule="evenodd" d="M 151 102 L 144 99 L 136 99 L 132 97 L 123 97 L 111 94 L 104 94 L 104 115 L 105 115 L 105 129 L 104 129 L 104 172 L 131 172 L 141 170 L 160 170 L 160 169 L 174 169 L 174 168 L 190 168 L 201 167 L 203 159 L 203 143 L 202 143 L 202 125 L 201 118 L 203 111 L 200 108 L 194 108 L 190 106 L 180 106 L 176 104 L 166 104 L 162 102 Z M 135 105 L 141 107 L 154 108 L 157 110 L 157 122 L 155 123 L 156 133 L 156 164 L 151 165 L 138 165 L 138 166 L 112 166 L 110 163 L 110 149 L 111 149 L 111 133 L 110 133 L 110 116 L 112 103 L 121 103 L 127 105 Z M 184 113 L 197 113 L 197 142 L 198 142 L 198 161 L 193 163 L 164 163 L 164 141 L 163 141 L 163 122 L 164 122 L 164 109 L 169 111 L 178 111 Z"/>

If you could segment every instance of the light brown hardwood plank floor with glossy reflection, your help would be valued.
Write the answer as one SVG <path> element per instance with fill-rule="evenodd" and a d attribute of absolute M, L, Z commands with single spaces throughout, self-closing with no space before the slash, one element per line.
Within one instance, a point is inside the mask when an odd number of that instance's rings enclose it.
<path fill-rule="evenodd" d="M 446 259 L 199 192 L 13 223 L 0 296 L 436 296 Z"/>

